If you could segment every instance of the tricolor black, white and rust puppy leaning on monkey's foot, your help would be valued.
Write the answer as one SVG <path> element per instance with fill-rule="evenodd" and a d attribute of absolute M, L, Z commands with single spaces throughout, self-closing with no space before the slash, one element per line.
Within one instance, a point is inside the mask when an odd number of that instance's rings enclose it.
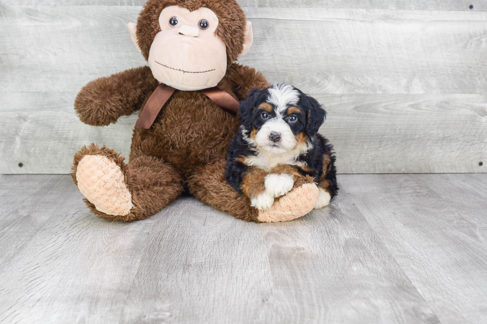
<path fill-rule="evenodd" d="M 289 84 L 252 89 L 240 106 L 241 128 L 228 148 L 227 181 L 258 209 L 312 177 L 320 198 L 316 209 L 336 195 L 333 147 L 318 133 L 326 112 L 318 101 Z"/>

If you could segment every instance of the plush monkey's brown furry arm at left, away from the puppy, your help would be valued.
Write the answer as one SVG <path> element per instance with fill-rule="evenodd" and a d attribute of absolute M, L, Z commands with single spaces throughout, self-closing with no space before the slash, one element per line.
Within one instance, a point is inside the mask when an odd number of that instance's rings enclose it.
<path fill-rule="evenodd" d="M 76 97 L 75 110 L 81 122 L 107 126 L 140 109 L 156 87 L 148 66 L 132 68 L 86 84 Z"/>

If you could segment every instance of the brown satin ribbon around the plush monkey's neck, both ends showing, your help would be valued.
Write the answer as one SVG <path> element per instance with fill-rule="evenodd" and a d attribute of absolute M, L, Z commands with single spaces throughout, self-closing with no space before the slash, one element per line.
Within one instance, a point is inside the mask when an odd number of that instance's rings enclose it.
<path fill-rule="evenodd" d="M 165 84 L 159 84 L 156 88 L 154 93 L 151 95 L 149 100 L 147 101 L 144 109 L 142 110 L 139 120 L 137 124 L 135 124 L 135 128 L 137 129 L 150 129 L 154 121 L 156 120 L 157 115 L 161 111 L 164 104 L 169 100 L 172 94 L 176 91 L 173 87 L 170 87 Z M 210 98 L 217 106 L 222 108 L 223 110 L 237 115 L 239 111 L 239 102 L 235 100 L 227 92 L 221 90 L 218 87 L 208 88 L 201 90 L 208 98 Z"/>

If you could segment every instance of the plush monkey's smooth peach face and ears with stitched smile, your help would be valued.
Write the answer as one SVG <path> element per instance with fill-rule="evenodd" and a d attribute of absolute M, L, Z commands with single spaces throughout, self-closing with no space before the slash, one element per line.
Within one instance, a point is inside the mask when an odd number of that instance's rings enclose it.
<path fill-rule="evenodd" d="M 145 54 L 154 77 L 179 90 L 216 86 L 225 76 L 229 63 L 227 44 L 219 35 L 225 28 L 220 25 L 217 13 L 204 6 L 192 9 L 165 6 L 159 14 L 159 28 L 149 53 Z M 129 24 L 129 31 L 140 49 L 137 26 Z M 244 35 L 242 52 L 246 52 L 252 43 L 250 23 L 247 23 Z"/>

